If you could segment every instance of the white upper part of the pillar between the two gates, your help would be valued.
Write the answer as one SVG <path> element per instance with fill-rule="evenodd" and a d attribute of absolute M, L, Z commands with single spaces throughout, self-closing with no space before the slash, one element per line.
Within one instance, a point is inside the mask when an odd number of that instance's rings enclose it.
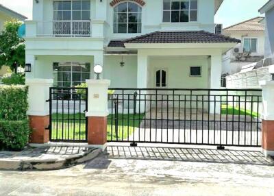
<path fill-rule="evenodd" d="M 108 79 L 86 79 L 88 84 L 88 112 L 86 117 L 108 116 Z"/>

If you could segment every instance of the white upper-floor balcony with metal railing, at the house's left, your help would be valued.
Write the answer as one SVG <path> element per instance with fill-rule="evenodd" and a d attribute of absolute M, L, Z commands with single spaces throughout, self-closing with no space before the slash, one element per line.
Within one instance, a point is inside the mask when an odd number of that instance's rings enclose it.
<path fill-rule="evenodd" d="M 108 41 L 108 23 L 92 21 L 25 21 L 26 51 L 48 55 L 101 51 Z"/>

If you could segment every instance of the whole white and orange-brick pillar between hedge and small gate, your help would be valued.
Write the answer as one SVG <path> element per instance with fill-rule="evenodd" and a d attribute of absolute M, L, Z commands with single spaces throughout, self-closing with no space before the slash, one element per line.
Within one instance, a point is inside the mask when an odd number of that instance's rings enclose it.
<path fill-rule="evenodd" d="M 53 85 L 53 79 L 27 79 L 29 86 L 29 125 L 32 128 L 30 143 L 49 142 L 49 88 Z"/>

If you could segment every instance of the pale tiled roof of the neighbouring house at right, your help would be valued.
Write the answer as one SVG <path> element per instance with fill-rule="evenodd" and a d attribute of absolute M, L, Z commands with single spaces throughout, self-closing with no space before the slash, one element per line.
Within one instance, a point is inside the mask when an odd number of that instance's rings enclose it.
<path fill-rule="evenodd" d="M 249 19 L 248 21 L 243 21 L 242 23 L 237 23 L 223 29 L 224 31 L 264 31 L 264 25 L 260 23 L 264 17 L 256 17 L 254 19 Z"/>

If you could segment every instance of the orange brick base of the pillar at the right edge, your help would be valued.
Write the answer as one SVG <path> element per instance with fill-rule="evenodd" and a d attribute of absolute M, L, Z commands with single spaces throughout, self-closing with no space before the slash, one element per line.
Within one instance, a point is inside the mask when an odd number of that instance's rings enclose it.
<path fill-rule="evenodd" d="M 262 120 L 262 149 L 264 154 L 274 155 L 274 121 Z"/>

